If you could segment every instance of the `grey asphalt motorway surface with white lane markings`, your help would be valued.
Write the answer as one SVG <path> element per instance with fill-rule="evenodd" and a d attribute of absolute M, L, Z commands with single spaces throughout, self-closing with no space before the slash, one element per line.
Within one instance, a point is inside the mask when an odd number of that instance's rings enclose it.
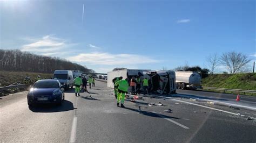
<path fill-rule="evenodd" d="M 256 142 L 255 120 L 237 116 L 254 111 L 158 96 L 118 108 L 106 83 L 89 91 L 31 109 L 26 91 L 0 97 L 0 142 Z"/>

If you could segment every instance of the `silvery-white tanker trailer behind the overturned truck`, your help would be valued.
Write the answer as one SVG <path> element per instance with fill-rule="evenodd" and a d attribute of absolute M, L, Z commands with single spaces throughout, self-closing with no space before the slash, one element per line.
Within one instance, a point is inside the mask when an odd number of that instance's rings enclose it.
<path fill-rule="evenodd" d="M 193 71 L 175 71 L 177 89 L 201 88 L 201 76 Z"/>

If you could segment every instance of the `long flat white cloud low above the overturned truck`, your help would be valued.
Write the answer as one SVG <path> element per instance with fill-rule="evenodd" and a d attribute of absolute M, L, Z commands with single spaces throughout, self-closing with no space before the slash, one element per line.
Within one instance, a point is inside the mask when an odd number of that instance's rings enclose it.
<path fill-rule="evenodd" d="M 145 63 L 156 63 L 158 60 L 149 56 L 136 54 L 110 54 L 110 53 L 81 53 L 68 58 L 70 61 L 85 62 L 91 65 L 138 65 Z"/>

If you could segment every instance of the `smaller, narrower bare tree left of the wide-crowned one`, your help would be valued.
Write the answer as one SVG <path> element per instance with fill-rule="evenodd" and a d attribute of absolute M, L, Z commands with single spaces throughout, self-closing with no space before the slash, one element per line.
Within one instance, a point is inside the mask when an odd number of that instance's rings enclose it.
<path fill-rule="evenodd" d="M 217 53 L 214 53 L 213 55 L 210 54 L 206 58 L 206 62 L 207 62 L 207 67 L 210 68 L 211 74 L 214 74 L 214 71 L 220 65 L 220 60 Z"/>

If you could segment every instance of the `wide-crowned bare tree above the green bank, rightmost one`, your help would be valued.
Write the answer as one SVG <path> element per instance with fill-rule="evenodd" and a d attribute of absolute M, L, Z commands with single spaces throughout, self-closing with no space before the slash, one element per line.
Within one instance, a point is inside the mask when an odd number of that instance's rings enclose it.
<path fill-rule="evenodd" d="M 248 62 L 251 61 L 251 59 L 248 59 L 248 56 L 237 52 L 223 53 L 220 60 L 231 74 L 244 71 L 248 67 Z"/>

